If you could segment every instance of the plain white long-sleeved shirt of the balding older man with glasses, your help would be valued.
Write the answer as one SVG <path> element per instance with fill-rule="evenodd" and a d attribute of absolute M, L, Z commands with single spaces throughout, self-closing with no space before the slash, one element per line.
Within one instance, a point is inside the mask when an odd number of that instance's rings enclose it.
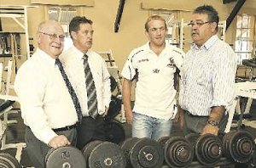
<path fill-rule="evenodd" d="M 52 129 L 72 126 L 78 121 L 55 59 L 40 49 L 20 66 L 15 77 L 15 92 L 26 126 L 46 144 L 57 136 Z"/>

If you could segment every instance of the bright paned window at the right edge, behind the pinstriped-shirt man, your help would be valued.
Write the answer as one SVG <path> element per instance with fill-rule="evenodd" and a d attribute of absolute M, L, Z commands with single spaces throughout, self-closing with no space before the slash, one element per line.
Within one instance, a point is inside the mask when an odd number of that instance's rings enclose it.
<path fill-rule="evenodd" d="M 255 36 L 255 16 L 237 14 L 235 53 L 237 63 L 242 59 L 253 58 L 253 39 Z"/>

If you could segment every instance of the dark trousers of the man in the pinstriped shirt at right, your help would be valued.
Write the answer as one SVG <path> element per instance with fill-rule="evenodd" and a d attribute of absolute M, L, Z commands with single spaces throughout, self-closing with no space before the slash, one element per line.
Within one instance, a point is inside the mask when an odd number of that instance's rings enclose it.
<path fill-rule="evenodd" d="M 229 115 L 224 115 L 219 122 L 218 132 L 224 132 L 228 122 Z M 209 116 L 190 115 L 188 111 L 184 111 L 184 133 L 201 133 L 202 129 L 207 125 Z"/>

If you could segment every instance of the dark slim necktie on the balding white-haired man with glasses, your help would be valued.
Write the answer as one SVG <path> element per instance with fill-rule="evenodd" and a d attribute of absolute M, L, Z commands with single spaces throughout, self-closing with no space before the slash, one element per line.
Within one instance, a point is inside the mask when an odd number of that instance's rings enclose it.
<path fill-rule="evenodd" d="M 79 122 L 81 122 L 83 115 L 82 115 L 81 106 L 79 104 L 79 98 L 77 97 L 76 92 L 73 90 L 73 87 L 72 87 L 70 81 L 67 78 L 67 74 L 66 74 L 65 70 L 63 69 L 63 66 L 61 64 L 60 59 L 55 59 L 55 64 L 58 65 L 59 70 L 61 71 L 61 76 L 63 77 L 63 79 L 64 79 L 64 81 L 66 83 L 67 90 L 68 90 L 68 92 L 69 92 L 69 94 L 70 94 L 70 96 L 71 96 L 71 98 L 73 100 L 73 105 L 74 105 L 74 107 L 75 107 L 75 109 L 77 111 Z"/>

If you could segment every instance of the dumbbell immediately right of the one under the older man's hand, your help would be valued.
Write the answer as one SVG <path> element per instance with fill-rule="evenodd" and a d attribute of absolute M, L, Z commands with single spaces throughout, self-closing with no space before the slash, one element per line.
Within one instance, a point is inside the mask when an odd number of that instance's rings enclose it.
<path fill-rule="evenodd" d="M 89 168 L 125 168 L 125 154 L 118 144 L 99 140 L 87 143 L 82 149 Z"/>

